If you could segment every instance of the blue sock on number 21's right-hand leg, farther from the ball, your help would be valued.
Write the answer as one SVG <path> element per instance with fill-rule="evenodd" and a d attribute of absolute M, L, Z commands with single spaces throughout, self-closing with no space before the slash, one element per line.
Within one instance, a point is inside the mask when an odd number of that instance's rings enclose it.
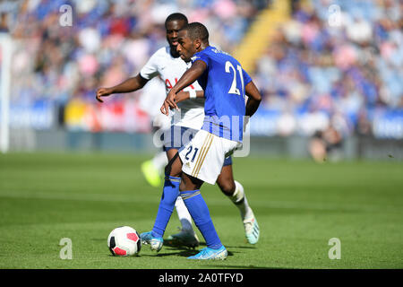
<path fill-rule="evenodd" d="M 201 231 L 203 238 L 206 240 L 208 248 L 218 249 L 222 246 L 219 235 L 214 228 L 210 217 L 209 207 L 201 196 L 200 190 L 189 190 L 180 193 L 184 199 L 189 213 L 191 213 L 193 222 Z"/>

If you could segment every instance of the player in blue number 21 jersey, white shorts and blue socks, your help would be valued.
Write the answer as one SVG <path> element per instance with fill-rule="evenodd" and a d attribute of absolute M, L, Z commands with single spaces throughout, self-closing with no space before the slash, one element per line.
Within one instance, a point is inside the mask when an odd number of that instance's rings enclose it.
<path fill-rule="evenodd" d="M 161 112 L 167 115 L 169 109 L 177 109 L 176 93 L 197 80 L 204 90 L 204 123 L 169 161 L 157 218 L 151 231 L 141 233 L 141 240 L 152 250 L 162 248 L 176 197 L 182 196 L 207 245 L 189 258 L 225 259 L 227 249 L 215 230 L 200 188 L 203 182 L 215 184 L 227 155 L 242 147 L 244 116 L 253 115 L 262 97 L 234 57 L 210 47 L 209 32 L 201 23 L 190 23 L 179 31 L 177 51 L 184 61 L 192 59 L 193 65 L 169 91 Z M 184 191 L 179 191 L 181 180 Z"/>

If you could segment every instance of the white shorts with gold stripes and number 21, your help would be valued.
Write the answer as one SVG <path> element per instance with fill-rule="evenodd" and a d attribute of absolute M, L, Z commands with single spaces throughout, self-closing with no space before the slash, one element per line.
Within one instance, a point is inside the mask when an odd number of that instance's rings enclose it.
<path fill-rule="evenodd" d="M 241 148 L 242 143 L 200 130 L 179 150 L 182 171 L 193 178 L 214 185 L 221 173 L 225 158 Z"/>

